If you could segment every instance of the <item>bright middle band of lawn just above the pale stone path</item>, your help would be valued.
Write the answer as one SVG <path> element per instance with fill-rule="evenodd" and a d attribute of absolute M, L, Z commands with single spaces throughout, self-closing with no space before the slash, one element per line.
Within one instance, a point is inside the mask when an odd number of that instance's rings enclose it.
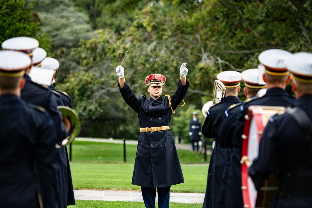
<path fill-rule="evenodd" d="M 134 163 L 71 163 L 74 189 L 140 191 L 131 185 Z M 184 183 L 171 186 L 171 192 L 205 193 L 207 166 L 182 165 Z"/>

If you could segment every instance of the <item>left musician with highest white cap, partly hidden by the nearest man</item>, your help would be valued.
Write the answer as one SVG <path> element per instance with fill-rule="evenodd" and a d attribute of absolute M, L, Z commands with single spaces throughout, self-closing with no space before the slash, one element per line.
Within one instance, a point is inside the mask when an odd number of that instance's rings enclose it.
<path fill-rule="evenodd" d="M 37 51 L 33 53 L 33 51 L 38 47 L 39 43 L 36 39 L 30 37 L 14 37 L 10 38 L 2 43 L 2 48 L 7 50 L 19 50 L 19 51 L 27 51 L 29 55 L 32 55 L 34 60 L 39 59 L 38 57 L 42 57 L 44 54 L 42 51 Z M 45 53 L 46 55 L 46 53 Z M 43 57 L 41 60 L 44 60 Z M 41 64 L 41 63 L 40 63 Z M 39 66 L 40 64 L 37 64 Z M 36 66 L 35 66 L 36 67 Z M 68 136 L 68 131 L 71 128 L 71 124 L 69 119 L 62 117 L 60 111 L 57 109 L 58 103 L 60 103 L 60 99 L 56 96 L 52 90 L 48 89 L 43 85 L 39 85 L 32 81 L 29 76 L 31 72 L 31 67 L 25 70 L 24 78 L 26 83 L 21 90 L 21 98 L 26 102 L 31 104 L 35 104 L 43 107 L 47 110 L 47 112 L 51 115 L 52 120 L 56 126 L 56 135 L 57 140 L 56 143 L 61 146 L 63 139 Z M 65 152 L 65 151 L 64 151 Z M 66 160 L 66 156 L 64 154 L 60 154 L 60 150 L 56 150 L 56 157 L 58 158 L 58 167 L 57 167 L 57 186 L 58 186 L 58 194 L 59 199 L 57 201 L 58 207 L 66 207 L 67 201 L 65 201 L 65 193 L 64 193 L 64 178 L 62 172 L 62 158 Z M 66 184 L 67 185 L 67 184 Z"/>

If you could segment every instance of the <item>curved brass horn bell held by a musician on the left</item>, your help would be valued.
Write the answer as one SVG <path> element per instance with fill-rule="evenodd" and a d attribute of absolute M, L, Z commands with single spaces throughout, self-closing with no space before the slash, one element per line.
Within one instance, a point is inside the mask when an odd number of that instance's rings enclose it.
<path fill-rule="evenodd" d="M 66 117 L 71 122 L 71 129 L 68 132 L 68 136 L 63 139 L 62 146 L 70 144 L 77 136 L 79 132 L 79 117 L 74 109 L 67 106 L 57 106 L 63 117 Z"/>

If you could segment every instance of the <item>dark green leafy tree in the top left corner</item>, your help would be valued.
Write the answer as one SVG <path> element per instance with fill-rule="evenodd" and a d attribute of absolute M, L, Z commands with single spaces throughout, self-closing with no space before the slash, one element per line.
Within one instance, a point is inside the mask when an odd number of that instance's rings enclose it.
<path fill-rule="evenodd" d="M 40 47 L 48 53 L 51 50 L 50 37 L 39 35 L 39 17 L 32 10 L 33 4 L 24 0 L 0 0 L 0 45 L 3 41 L 17 36 L 36 38 Z"/>

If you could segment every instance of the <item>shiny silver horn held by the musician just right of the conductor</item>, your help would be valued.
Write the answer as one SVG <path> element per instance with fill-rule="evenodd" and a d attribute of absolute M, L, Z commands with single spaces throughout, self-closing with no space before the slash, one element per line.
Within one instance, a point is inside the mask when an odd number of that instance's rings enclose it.
<path fill-rule="evenodd" d="M 221 99 L 225 97 L 225 94 L 227 93 L 227 89 L 223 85 L 223 83 L 220 80 L 215 80 L 213 85 L 213 91 L 212 91 L 212 98 L 213 100 L 205 103 L 202 106 L 202 114 L 207 117 L 208 109 L 217 103 L 220 103 Z"/>

